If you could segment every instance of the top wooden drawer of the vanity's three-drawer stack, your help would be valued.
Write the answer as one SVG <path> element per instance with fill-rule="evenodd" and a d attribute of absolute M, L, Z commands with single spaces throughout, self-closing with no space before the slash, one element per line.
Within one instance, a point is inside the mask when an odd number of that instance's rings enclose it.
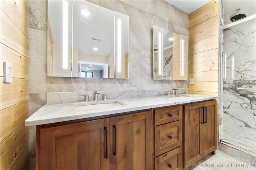
<path fill-rule="evenodd" d="M 160 109 L 154 109 L 154 125 L 182 119 L 182 106 L 172 106 Z"/>

